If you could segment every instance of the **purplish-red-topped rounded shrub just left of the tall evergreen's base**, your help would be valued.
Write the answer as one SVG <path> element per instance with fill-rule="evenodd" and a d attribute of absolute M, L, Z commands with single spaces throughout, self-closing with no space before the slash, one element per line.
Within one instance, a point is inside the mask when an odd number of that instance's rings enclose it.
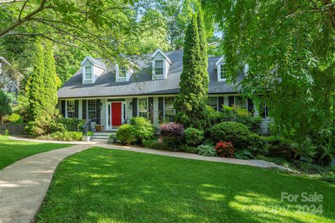
<path fill-rule="evenodd" d="M 161 134 L 165 144 L 167 144 L 173 151 L 178 151 L 179 146 L 183 144 L 184 125 L 165 123 L 161 125 Z"/>

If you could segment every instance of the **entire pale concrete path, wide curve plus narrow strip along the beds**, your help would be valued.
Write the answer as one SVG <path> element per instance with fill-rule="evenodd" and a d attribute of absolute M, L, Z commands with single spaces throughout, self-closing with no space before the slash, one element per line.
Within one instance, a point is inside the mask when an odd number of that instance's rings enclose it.
<path fill-rule="evenodd" d="M 22 140 L 22 138 L 18 137 L 10 137 L 10 139 Z M 24 140 L 36 141 L 34 139 L 27 138 Z M 58 141 L 43 142 L 59 143 Z M 238 160 L 225 157 L 204 157 L 202 155 L 191 153 L 160 151 L 133 146 L 116 146 L 105 144 L 103 142 L 94 143 L 95 144 L 81 143 L 68 148 L 59 148 L 53 151 L 31 155 L 30 157 L 19 160 L 0 170 L 0 223 L 32 222 L 34 220 L 34 216 L 43 203 L 43 199 L 47 193 L 52 176 L 59 162 L 61 162 L 61 160 L 68 155 L 84 151 L 92 146 L 134 151 L 137 153 L 167 155 L 193 160 L 226 162 L 263 168 L 279 168 L 285 171 L 292 171 L 292 169 L 281 167 L 277 164 L 266 162 L 264 160 Z"/>

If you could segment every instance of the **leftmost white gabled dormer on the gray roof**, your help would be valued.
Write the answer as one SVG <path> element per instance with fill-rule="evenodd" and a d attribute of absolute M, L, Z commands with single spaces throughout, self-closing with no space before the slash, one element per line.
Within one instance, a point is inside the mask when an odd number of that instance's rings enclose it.
<path fill-rule="evenodd" d="M 101 61 L 91 56 L 86 56 L 80 66 L 82 66 L 82 84 L 93 84 L 107 69 Z"/>

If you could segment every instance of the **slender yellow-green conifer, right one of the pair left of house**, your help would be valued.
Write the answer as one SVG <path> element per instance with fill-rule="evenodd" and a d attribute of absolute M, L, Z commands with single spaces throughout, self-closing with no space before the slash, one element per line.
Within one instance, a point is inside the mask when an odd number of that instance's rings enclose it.
<path fill-rule="evenodd" d="M 50 40 L 46 40 L 44 49 L 44 87 L 47 89 L 45 92 L 45 112 L 49 116 L 54 116 L 58 102 L 57 74 Z"/>

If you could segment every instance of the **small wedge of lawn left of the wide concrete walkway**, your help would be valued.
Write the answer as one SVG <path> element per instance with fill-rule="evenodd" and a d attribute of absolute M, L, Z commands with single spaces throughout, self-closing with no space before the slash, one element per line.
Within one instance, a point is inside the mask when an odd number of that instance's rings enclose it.
<path fill-rule="evenodd" d="M 16 141 L 0 136 L 0 169 L 29 155 L 68 146 L 70 144 L 43 144 L 30 141 Z"/>

